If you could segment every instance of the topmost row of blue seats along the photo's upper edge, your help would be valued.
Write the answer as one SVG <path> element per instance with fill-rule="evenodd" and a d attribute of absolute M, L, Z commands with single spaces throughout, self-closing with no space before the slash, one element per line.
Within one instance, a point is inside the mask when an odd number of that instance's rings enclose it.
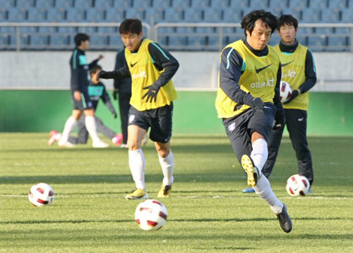
<path fill-rule="evenodd" d="M 2 0 L 4 8 L 353 8 L 352 0 Z"/>

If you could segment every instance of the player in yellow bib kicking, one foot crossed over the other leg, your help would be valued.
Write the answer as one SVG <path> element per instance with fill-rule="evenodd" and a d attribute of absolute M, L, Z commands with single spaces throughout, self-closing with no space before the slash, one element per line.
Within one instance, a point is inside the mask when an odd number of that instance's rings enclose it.
<path fill-rule="evenodd" d="M 268 138 L 285 123 L 280 102 L 280 58 L 270 37 L 277 18 L 270 12 L 251 11 L 241 20 L 246 38 L 222 50 L 220 79 L 215 106 L 248 185 L 270 205 L 282 230 L 289 233 L 292 221 L 287 206 L 275 196 L 261 173 L 268 158 Z"/>

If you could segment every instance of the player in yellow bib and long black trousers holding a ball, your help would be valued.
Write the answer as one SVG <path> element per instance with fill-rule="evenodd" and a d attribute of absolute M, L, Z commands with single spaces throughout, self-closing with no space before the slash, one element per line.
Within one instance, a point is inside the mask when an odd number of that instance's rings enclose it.
<path fill-rule="evenodd" d="M 291 15 L 280 16 L 278 33 L 280 44 L 275 47 L 280 52 L 282 80 L 292 87 L 292 96 L 285 102 L 286 125 L 292 146 L 297 154 L 299 175 L 313 183 L 313 162 L 306 139 L 306 118 L 309 108 L 309 90 L 316 84 L 316 68 L 311 51 L 299 44 L 296 39 L 298 20 Z M 268 144 L 268 161 L 263 166 L 263 174 L 268 178 L 273 170 L 280 149 L 284 126 L 273 133 Z M 311 189 L 309 190 L 311 193 Z"/>

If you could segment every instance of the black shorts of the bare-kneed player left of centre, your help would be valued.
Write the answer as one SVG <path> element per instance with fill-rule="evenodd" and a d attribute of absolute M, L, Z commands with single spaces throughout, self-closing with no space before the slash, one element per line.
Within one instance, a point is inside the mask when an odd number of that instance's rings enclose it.
<path fill-rule="evenodd" d="M 137 125 L 150 130 L 150 140 L 153 142 L 167 143 L 172 137 L 173 104 L 157 109 L 138 111 L 130 106 L 128 111 L 128 125 Z"/>

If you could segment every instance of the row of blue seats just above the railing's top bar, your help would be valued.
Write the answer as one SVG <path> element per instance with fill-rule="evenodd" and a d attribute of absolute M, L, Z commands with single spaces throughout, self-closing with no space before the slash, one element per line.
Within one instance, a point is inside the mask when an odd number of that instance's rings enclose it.
<path fill-rule="evenodd" d="M 18 0 L 19 1 L 19 0 Z M 304 23 L 353 23 L 353 8 L 267 8 L 280 16 L 292 14 Z M 237 23 L 253 8 L 0 8 L 0 22 L 120 22 L 140 18 L 145 23 Z M 285 11 L 283 11 L 285 10 Z"/>

